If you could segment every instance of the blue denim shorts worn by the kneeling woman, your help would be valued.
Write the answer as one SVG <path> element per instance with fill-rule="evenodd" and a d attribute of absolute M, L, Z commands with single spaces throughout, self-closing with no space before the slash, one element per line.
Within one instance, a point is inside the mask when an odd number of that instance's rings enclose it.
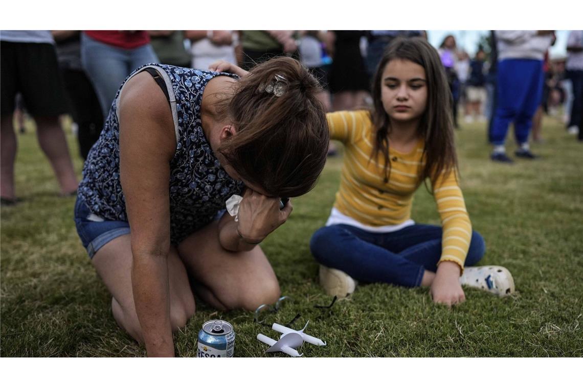
<path fill-rule="evenodd" d="M 93 258 L 95 252 L 111 240 L 129 234 L 129 223 L 104 220 L 93 214 L 79 197 L 75 202 L 75 226 L 89 258 Z"/>

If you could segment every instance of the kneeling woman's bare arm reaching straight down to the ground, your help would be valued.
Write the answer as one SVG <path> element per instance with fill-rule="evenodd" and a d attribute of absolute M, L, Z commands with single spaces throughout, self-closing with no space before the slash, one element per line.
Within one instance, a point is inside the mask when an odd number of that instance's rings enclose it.
<path fill-rule="evenodd" d="M 174 125 L 150 74 L 128 81 L 120 101 L 120 176 L 132 249 L 132 291 L 146 351 L 173 357 L 170 325 L 170 160 Z"/>

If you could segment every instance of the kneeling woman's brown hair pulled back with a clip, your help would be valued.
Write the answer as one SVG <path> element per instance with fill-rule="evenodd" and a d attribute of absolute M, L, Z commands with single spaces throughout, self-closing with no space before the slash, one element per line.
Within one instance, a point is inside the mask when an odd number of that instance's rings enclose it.
<path fill-rule="evenodd" d="M 285 79 L 280 97 L 264 90 Z M 326 163 L 329 131 L 316 97 L 318 81 L 295 59 L 268 60 L 236 84 L 226 114 L 237 129 L 219 147 L 227 162 L 250 183 L 274 197 L 310 191 Z"/>

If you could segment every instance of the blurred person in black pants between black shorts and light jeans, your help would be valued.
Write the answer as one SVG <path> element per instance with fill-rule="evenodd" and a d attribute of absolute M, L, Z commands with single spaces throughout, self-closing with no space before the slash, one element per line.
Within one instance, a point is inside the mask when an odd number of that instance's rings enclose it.
<path fill-rule="evenodd" d="M 57 47 L 57 58 L 65 82 L 69 113 L 76 125 L 79 154 L 87 159 L 103 127 L 103 113 L 91 81 L 81 64 L 80 31 L 52 31 Z"/>

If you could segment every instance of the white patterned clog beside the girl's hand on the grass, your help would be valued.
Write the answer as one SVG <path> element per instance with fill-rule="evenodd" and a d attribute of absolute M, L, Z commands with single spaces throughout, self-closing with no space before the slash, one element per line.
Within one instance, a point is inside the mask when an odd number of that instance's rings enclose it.
<path fill-rule="evenodd" d="M 482 289 L 504 297 L 514 293 L 514 279 L 510 271 L 499 265 L 466 267 L 459 277 L 462 286 Z"/>

